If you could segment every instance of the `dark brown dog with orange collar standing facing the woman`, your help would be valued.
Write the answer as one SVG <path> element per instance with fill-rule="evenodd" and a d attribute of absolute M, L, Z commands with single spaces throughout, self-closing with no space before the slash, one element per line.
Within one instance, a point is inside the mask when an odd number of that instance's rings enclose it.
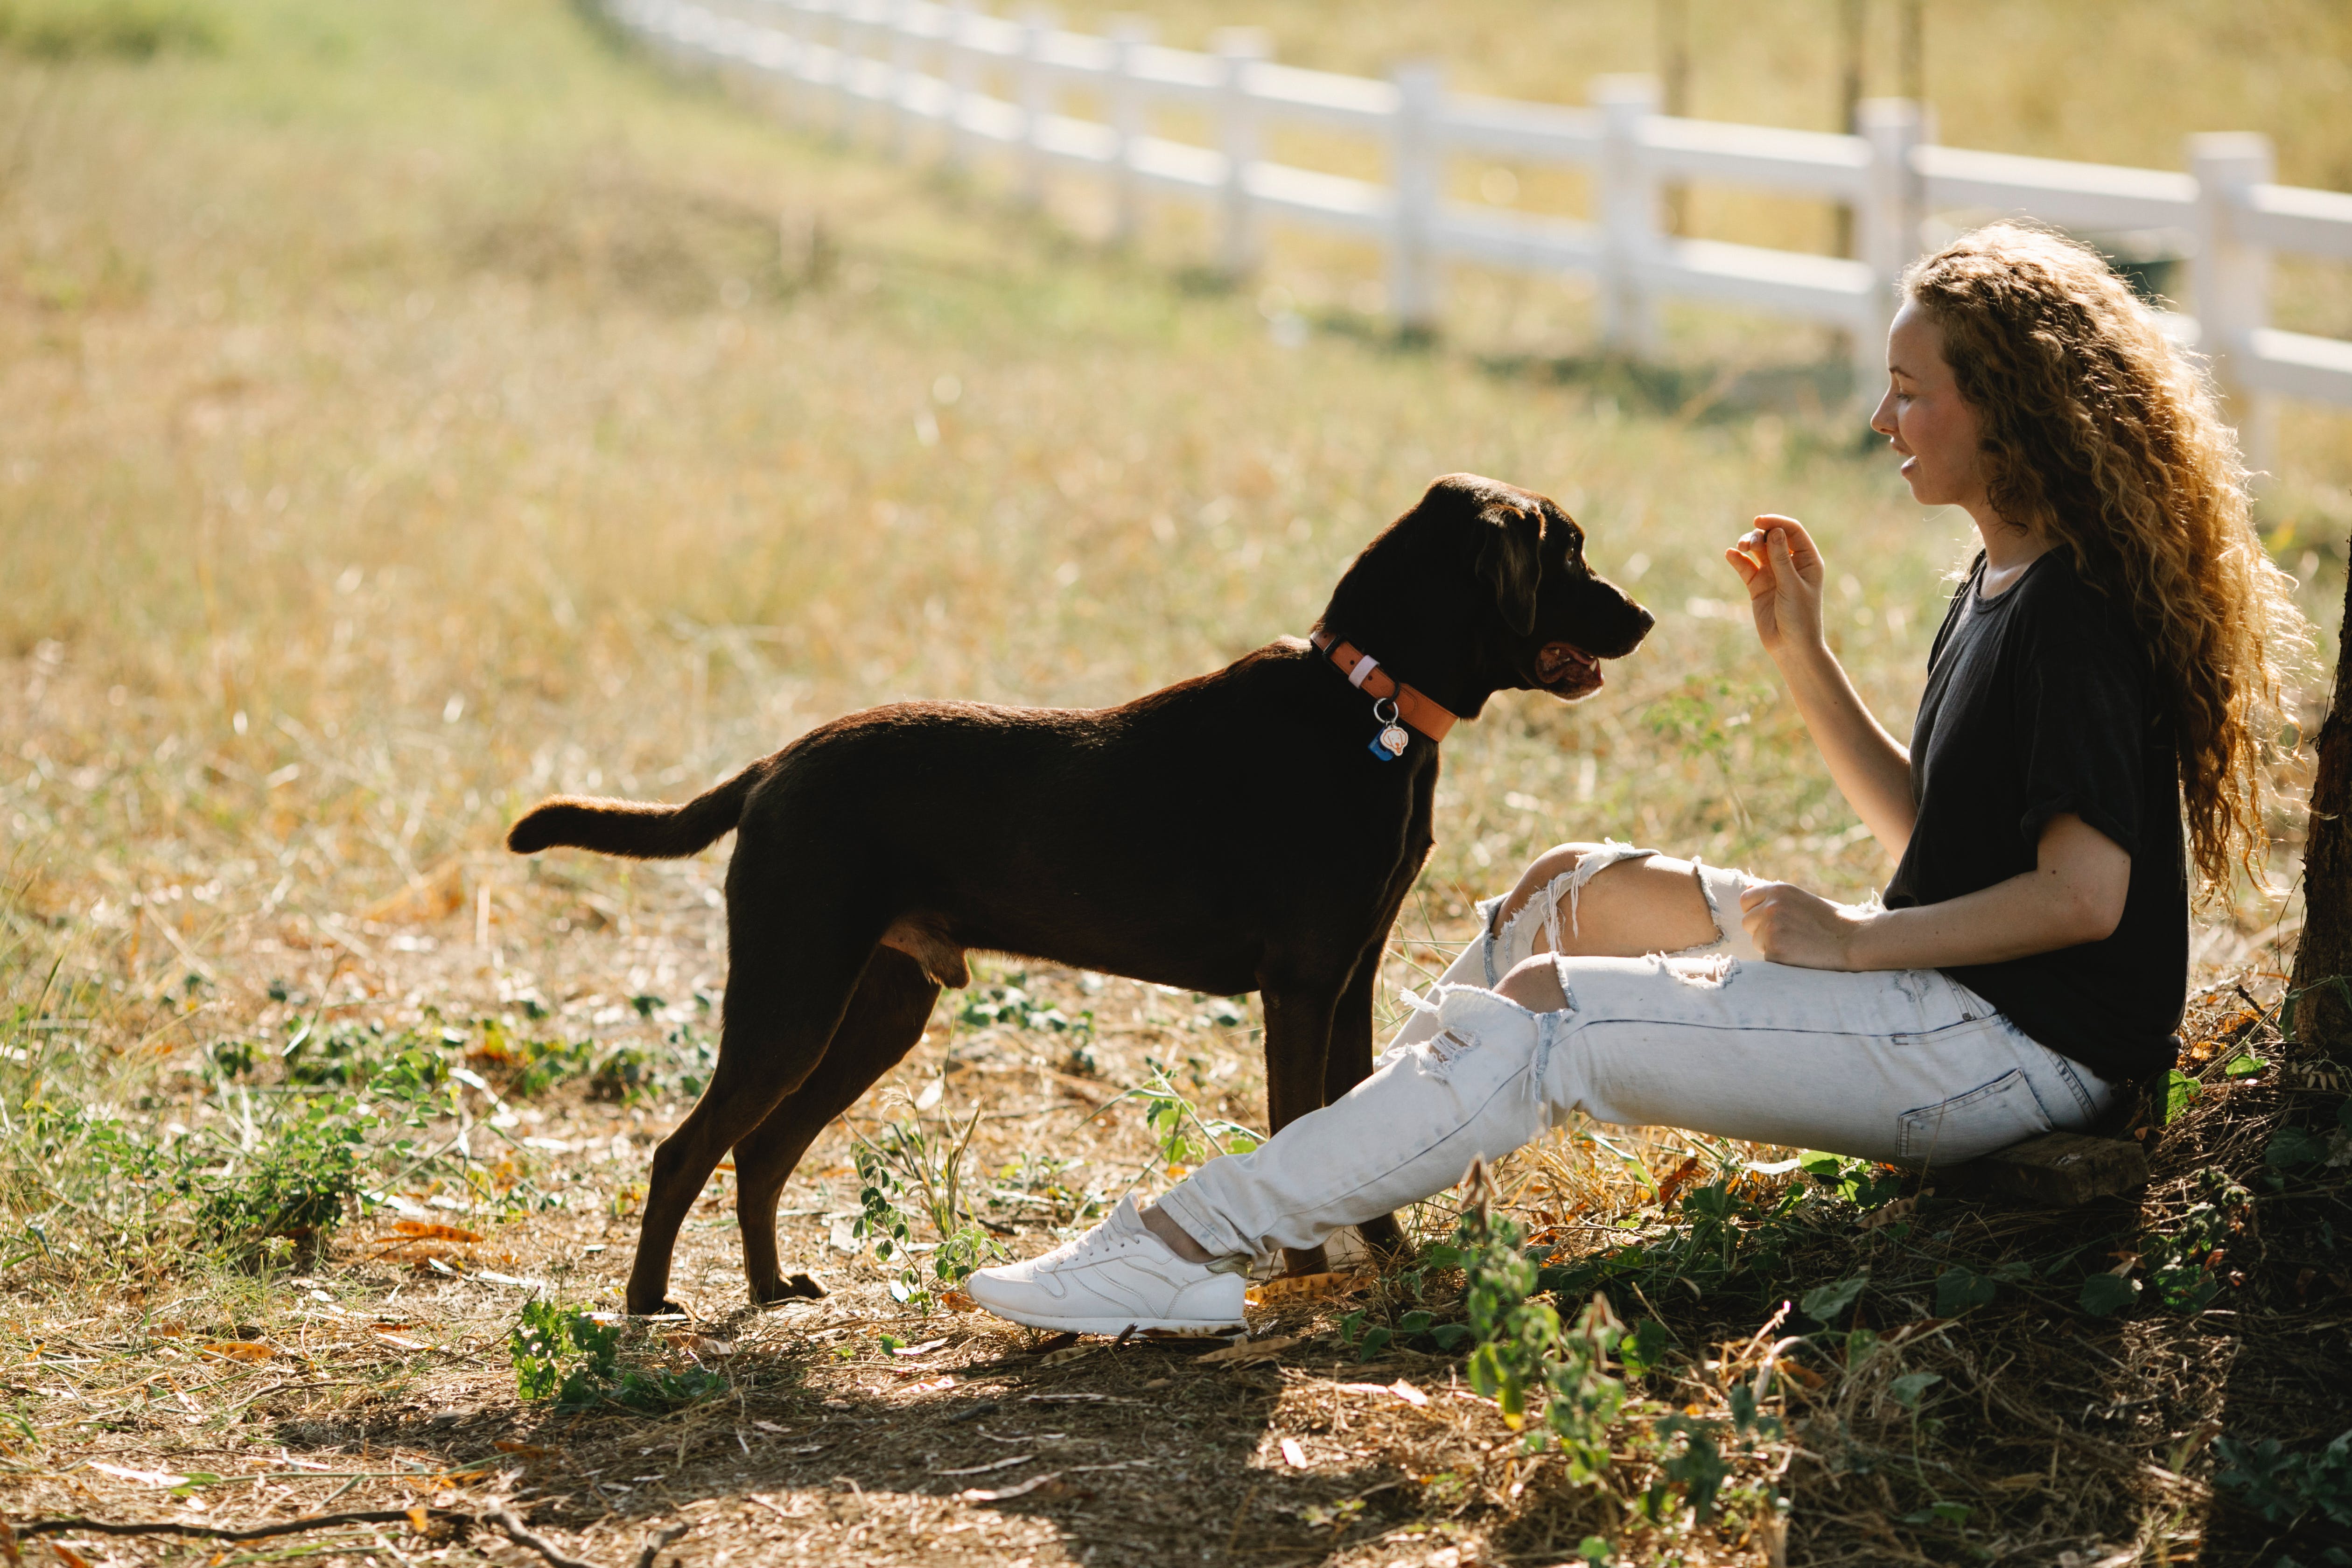
<path fill-rule="evenodd" d="M 1312 644 L 1124 708 L 870 708 L 684 806 L 539 804 L 508 849 L 670 858 L 739 830 L 720 1060 L 654 1152 L 628 1309 L 670 1309 L 677 1227 L 729 1147 L 753 1300 L 807 1288 L 779 1267 L 776 1197 L 938 990 L 969 983 L 974 947 L 1265 992 L 1270 1124 L 1348 1093 L 1371 1072 L 1381 945 L 1435 842 L 1432 736 L 1496 691 L 1585 696 L 1649 628 L 1552 501 L 1449 475 L 1348 567 Z M 1392 1220 L 1362 1229 L 1397 1241 Z"/>

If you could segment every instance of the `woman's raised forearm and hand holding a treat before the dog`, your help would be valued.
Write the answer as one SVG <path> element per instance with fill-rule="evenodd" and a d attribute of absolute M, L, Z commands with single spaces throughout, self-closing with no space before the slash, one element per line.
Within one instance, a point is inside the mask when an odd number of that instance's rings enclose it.
<path fill-rule="evenodd" d="M 1755 531 L 1724 550 L 1724 559 L 1748 583 L 1757 642 L 1797 698 L 1830 778 L 1870 835 L 1900 860 L 1917 820 L 1910 752 L 1870 717 L 1820 635 L 1820 550 L 1795 517 L 1757 517 Z"/>

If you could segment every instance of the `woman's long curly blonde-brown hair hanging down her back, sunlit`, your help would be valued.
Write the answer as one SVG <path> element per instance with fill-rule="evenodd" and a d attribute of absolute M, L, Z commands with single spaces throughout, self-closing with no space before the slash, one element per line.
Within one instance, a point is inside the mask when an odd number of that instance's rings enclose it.
<path fill-rule="evenodd" d="M 2312 628 L 2253 534 L 2237 433 L 2211 383 L 2098 252 L 1987 223 L 1915 263 L 2004 522 L 2065 545 L 2119 597 L 2171 698 L 2201 896 L 2263 886 L 2263 759 Z"/>

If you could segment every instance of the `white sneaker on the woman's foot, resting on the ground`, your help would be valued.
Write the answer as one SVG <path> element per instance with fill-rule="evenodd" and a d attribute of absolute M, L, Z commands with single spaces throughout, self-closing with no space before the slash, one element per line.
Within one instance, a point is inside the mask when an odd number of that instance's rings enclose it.
<path fill-rule="evenodd" d="M 1025 1262 L 978 1269 L 964 1291 L 1002 1319 L 1061 1333 L 1242 1328 L 1249 1284 L 1221 1262 L 1185 1262 L 1143 1227 L 1127 1197 L 1084 1237 Z"/>

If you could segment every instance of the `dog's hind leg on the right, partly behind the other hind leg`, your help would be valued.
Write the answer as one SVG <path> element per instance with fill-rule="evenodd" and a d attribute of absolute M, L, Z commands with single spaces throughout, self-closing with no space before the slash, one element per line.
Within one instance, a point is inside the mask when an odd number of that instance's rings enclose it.
<path fill-rule="evenodd" d="M 934 1001 L 938 983 L 922 964 L 894 947 L 877 947 L 826 1058 L 767 1121 L 736 1140 L 736 1220 L 743 1225 L 743 1274 L 755 1302 L 816 1295 L 816 1284 L 804 1274 L 790 1281 L 783 1276 L 776 1255 L 776 1197 L 826 1124 L 856 1105 L 877 1077 L 915 1048 Z"/>

